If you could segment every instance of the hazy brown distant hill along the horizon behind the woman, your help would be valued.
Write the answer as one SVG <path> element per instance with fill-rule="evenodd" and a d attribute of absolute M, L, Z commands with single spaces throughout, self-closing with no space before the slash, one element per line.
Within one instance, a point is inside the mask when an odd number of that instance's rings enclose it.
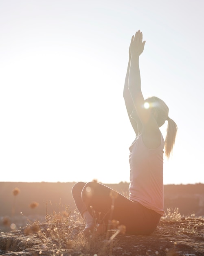
<path fill-rule="evenodd" d="M 72 199 L 71 189 L 74 182 L 0 182 L 0 217 L 18 215 L 39 215 L 53 211 L 59 212 L 69 205 L 70 209 L 76 209 Z M 119 184 L 105 184 L 116 191 L 128 195 L 127 182 Z M 18 188 L 20 193 L 13 195 L 13 190 Z M 204 216 L 204 184 L 165 185 L 165 211 L 168 208 L 178 208 L 181 215 L 188 216 L 195 213 L 196 216 Z M 37 207 L 31 207 L 36 202 Z"/>

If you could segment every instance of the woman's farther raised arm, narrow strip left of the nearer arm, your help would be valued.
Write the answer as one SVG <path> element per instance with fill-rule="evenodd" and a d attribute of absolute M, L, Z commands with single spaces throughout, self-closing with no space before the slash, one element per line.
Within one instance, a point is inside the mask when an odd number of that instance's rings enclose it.
<path fill-rule="evenodd" d="M 137 135 L 138 133 L 141 132 L 141 122 L 140 122 L 140 119 L 135 110 L 134 103 L 133 103 L 131 94 L 128 89 L 130 62 L 131 62 L 131 53 L 130 53 L 130 48 L 129 48 L 129 61 L 128 61 L 128 65 L 127 65 L 127 73 L 125 76 L 123 98 L 125 100 L 125 106 L 126 106 L 126 110 L 127 110 L 127 115 L 129 117 L 129 121 L 132 125 L 132 128 L 134 129 L 135 134 Z"/>

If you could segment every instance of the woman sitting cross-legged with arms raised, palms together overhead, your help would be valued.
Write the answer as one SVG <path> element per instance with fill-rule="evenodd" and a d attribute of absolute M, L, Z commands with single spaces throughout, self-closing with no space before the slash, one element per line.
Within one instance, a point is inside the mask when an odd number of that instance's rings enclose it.
<path fill-rule="evenodd" d="M 129 199 L 97 182 L 78 182 L 72 196 L 81 216 L 86 220 L 84 234 L 97 226 L 105 232 L 108 223 L 118 221 L 127 234 L 149 235 L 158 226 L 164 214 L 163 153 L 172 153 L 177 126 L 169 118 L 169 108 L 161 99 L 144 99 L 141 92 L 139 56 L 145 41 L 138 30 L 132 36 L 123 97 L 136 139 L 129 147 Z M 165 141 L 160 127 L 168 121 Z"/>

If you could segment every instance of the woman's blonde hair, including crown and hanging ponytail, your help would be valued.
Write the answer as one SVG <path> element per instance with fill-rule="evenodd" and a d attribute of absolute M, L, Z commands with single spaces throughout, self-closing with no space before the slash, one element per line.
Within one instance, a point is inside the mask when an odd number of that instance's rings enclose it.
<path fill-rule="evenodd" d="M 161 127 L 165 121 L 168 121 L 165 138 L 165 155 L 167 159 L 169 159 L 175 144 L 178 127 L 173 119 L 169 118 L 169 108 L 164 101 L 155 96 L 149 97 L 145 101 L 149 103 L 151 108 L 155 108 L 157 112 L 156 121 L 159 127 Z"/>

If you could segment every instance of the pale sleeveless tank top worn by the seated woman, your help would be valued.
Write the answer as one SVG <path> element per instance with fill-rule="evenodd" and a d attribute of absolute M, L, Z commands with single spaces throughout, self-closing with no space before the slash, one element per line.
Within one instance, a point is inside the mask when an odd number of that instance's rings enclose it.
<path fill-rule="evenodd" d="M 129 147 L 130 184 L 129 199 L 139 202 L 148 209 L 163 216 L 164 185 L 163 155 L 165 141 L 161 135 L 161 144 L 149 149 L 138 135 Z"/>

